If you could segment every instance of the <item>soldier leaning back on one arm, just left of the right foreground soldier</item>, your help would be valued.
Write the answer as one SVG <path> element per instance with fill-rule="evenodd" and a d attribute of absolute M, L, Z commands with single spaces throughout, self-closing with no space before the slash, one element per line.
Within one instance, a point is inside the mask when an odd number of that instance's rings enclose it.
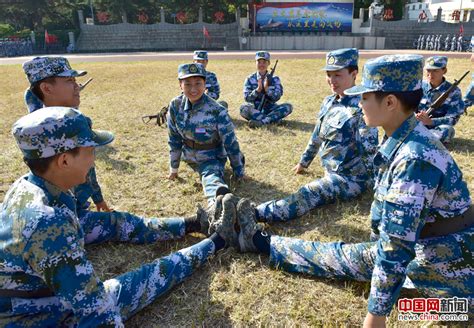
<path fill-rule="evenodd" d="M 326 55 L 324 70 L 333 94 L 324 99 L 308 146 L 293 169 L 303 172 L 319 152 L 325 176 L 284 199 L 259 205 L 260 221 L 292 220 L 338 198 L 354 198 L 372 186 L 378 132 L 363 122 L 360 97 L 344 94 L 355 85 L 358 58 L 355 48 Z"/>

